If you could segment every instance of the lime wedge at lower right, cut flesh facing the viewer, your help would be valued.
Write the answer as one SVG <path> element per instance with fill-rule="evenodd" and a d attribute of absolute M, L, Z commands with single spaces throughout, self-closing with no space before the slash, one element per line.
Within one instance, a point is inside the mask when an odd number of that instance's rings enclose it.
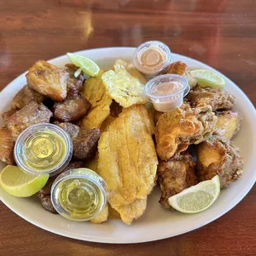
<path fill-rule="evenodd" d="M 188 187 L 183 192 L 170 197 L 168 203 L 177 211 L 197 213 L 209 208 L 220 195 L 220 178 L 216 175 L 208 181 Z"/>

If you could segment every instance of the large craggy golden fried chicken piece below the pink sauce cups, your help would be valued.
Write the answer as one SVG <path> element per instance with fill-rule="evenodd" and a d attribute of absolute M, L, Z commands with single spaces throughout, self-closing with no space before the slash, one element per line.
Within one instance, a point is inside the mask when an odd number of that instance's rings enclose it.
<path fill-rule="evenodd" d="M 191 108 L 185 104 L 161 115 L 155 132 L 160 159 L 168 160 L 188 145 L 206 140 L 214 131 L 216 121 L 209 105 Z"/>

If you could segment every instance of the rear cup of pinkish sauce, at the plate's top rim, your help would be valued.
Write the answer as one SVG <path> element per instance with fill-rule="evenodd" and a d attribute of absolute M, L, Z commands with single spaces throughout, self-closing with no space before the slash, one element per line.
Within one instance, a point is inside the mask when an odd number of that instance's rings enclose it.
<path fill-rule="evenodd" d="M 160 41 L 147 41 L 135 50 L 133 64 L 146 78 L 154 78 L 169 68 L 171 57 L 167 45 Z"/>

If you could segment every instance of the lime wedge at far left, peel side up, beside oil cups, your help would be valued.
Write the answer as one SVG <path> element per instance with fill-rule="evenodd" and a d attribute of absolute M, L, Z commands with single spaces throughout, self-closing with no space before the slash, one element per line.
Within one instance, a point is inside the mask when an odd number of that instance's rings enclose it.
<path fill-rule="evenodd" d="M 33 175 L 20 168 L 7 165 L 0 173 L 0 186 L 15 197 L 31 197 L 45 186 L 49 174 Z"/>

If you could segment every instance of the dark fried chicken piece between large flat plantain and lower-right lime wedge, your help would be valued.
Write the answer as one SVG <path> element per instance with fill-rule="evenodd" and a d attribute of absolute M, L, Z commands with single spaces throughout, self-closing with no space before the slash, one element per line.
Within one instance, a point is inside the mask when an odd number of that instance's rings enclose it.
<path fill-rule="evenodd" d="M 161 205 L 165 208 L 170 208 L 168 204 L 169 197 L 198 183 L 194 170 L 195 165 L 196 163 L 193 161 L 192 155 L 188 152 L 175 154 L 167 162 L 160 162 L 158 167 L 158 183 L 162 191 L 159 200 Z"/>

